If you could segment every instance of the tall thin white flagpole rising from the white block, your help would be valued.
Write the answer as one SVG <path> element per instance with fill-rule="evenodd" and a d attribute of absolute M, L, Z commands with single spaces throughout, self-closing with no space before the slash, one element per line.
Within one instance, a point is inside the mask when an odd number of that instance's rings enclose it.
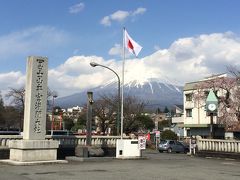
<path fill-rule="evenodd" d="M 123 62 L 122 62 L 122 101 L 121 101 L 121 139 L 123 139 L 123 90 L 124 90 L 124 65 L 125 65 L 125 27 L 123 28 Z"/>

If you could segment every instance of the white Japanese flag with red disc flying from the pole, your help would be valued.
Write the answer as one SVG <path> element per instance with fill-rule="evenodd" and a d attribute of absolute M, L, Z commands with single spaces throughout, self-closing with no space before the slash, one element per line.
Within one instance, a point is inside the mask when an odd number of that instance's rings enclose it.
<path fill-rule="evenodd" d="M 127 31 L 124 31 L 125 35 L 125 47 L 129 50 L 130 53 L 134 54 L 135 56 L 138 56 L 139 52 L 142 49 L 142 46 L 140 46 L 138 43 L 136 43 L 127 33 Z"/>

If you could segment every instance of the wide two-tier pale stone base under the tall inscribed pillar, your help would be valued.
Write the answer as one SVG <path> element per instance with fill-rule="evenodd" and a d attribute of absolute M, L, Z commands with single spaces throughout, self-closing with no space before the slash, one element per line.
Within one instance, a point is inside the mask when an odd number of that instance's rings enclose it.
<path fill-rule="evenodd" d="M 59 142 L 54 140 L 12 140 L 9 142 L 10 159 L 2 162 L 15 165 L 64 163 L 57 160 L 58 146 Z"/>

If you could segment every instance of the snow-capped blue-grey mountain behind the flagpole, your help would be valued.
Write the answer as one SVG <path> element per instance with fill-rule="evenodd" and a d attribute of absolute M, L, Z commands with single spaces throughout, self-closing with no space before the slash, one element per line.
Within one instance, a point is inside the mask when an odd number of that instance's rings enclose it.
<path fill-rule="evenodd" d="M 87 102 L 87 91 L 92 91 L 96 100 L 101 95 L 117 94 L 117 88 L 117 82 L 110 81 L 103 86 L 57 98 L 55 102 L 56 105 L 64 108 L 82 106 Z M 144 81 L 133 80 L 124 83 L 124 96 L 135 96 L 143 101 L 149 109 L 163 108 L 174 104 L 183 104 L 183 87 L 153 78 Z"/>

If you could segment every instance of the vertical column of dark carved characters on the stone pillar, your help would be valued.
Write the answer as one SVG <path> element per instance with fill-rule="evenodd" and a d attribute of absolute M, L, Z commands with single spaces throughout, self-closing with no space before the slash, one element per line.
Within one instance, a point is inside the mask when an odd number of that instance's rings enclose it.
<path fill-rule="evenodd" d="M 41 118 L 43 112 L 43 59 L 37 59 L 37 71 L 36 71 L 36 95 L 34 105 L 34 132 L 41 133 Z"/>

